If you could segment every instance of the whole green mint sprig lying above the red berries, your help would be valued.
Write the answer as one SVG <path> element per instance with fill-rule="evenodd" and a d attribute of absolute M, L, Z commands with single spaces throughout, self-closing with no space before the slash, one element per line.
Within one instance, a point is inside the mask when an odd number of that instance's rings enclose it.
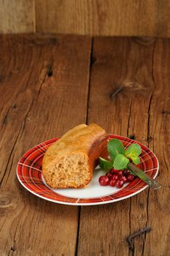
<path fill-rule="evenodd" d="M 114 167 L 116 170 L 123 170 L 128 167 L 130 159 L 135 165 L 138 165 L 140 162 L 139 154 L 141 154 L 142 149 L 139 144 L 134 143 L 125 150 L 120 140 L 112 139 L 107 144 L 107 150 L 111 161 L 100 157 L 99 166 L 101 169 L 110 170 Z"/>

